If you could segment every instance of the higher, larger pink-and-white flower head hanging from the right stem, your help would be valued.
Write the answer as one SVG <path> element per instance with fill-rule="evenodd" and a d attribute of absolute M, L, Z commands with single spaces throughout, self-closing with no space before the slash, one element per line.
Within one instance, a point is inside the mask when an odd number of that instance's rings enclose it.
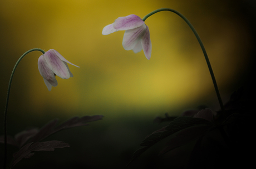
<path fill-rule="evenodd" d="M 107 35 L 118 30 L 125 30 L 122 46 L 125 50 L 133 50 L 134 53 L 140 52 L 142 49 L 147 59 L 151 57 L 151 40 L 149 35 L 149 27 L 142 19 L 135 14 L 126 17 L 119 17 L 112 24 L 103 28 L 102 34 Z"/>

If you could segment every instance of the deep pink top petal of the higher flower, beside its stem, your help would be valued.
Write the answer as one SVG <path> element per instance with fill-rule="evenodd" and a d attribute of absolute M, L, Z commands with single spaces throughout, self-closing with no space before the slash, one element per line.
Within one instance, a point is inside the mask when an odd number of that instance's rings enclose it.
<path fill-rule="evenodd" d="M 130 14 L 126 17 L 119 17 L 116 19 L 116 21 L 113 23 L 113 27 L 116 30 L 129 30 L 134 29 L 137 27 L 140 27 L 144 24 L 144 21 L 135 14 Z"/>

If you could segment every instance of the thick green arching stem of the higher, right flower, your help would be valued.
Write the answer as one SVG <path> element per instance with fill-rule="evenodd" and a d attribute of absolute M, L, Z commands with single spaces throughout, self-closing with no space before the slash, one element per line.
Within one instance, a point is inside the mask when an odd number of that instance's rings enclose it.
<path fill-rule="evenodd" d="M 148 17 L 150 17 L 152 14 L 155 14 L 157 12 L 160 12 L 160 11 L 170 11 L 170 12 L 173 12 L 173 13 L 176 13 L 178 14 L 178 16 L 180 16 L 181 18 L 183 18 L 183 20 L 189 25 L 189 27 L 191 28 L 191 30 L 193 31 L 193 33 L 195 34 L 195 37 L 196 39 L 198 39 L 198 42 L 200 44 L 200 47 L 201 49 L 203 50 L 203 53 L 204 53 L 204 57 L 205 57 L 205 60 L 206 60 L 206 63 L 208 65 L 208 68 L 209 68 L 209 71 L 210 71 L 210 75 L 211 75 L 211 79 L 213 80 L 213 85 L 214 85 L 214 88 L 215 88 L 215 91 L 216 91 L 216 95 L 218 97 L 218 100 L 219 100 L 219 104 L 220 104 L 220 108 L 221 110 L 224 112 L 224 106 L 223 106 L 223 102 L 221 100 L 221 97 L 220 97 L 220 93 L 219 93 L 219 89 L 218 89 L 218 85 L 216 83 L 216 79 L 215 79 L 215 76 L 214 76 L 214 73 L 213 73 L 213 69 L 211 68 L 211 64 L 210 64 L 210 60 L 208 58 L 208 55 L 206 53 L 206 50 L 204 48 L 204 45 L 203 45 L 203 42 L 201 41 L 198 33 L 196 32 L 195 28 L 193 27 L 193 25 L 188 21 L 188 19 L 186 19 L 183 14 L 179 13 L 178 11 L 175 11 L 174 9 L 170 9 L 170 8 L 161 8 L 161 9 L 157 9 L 149 14 L 147 14 L 143 19 L 142 21 L 145 21 Z"/>

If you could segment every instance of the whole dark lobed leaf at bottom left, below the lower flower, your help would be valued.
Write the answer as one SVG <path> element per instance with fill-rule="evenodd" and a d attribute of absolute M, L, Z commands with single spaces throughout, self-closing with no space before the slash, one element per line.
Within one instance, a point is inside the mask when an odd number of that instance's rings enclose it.
<path fill-rule="evenodd" d="M 11 144 L 17 147 L 21 147 L 18 152 L 13 153 L 13 163 L 12 167 L 16 165 L 22 158 L 30 158 L 34 155 L 33 151 L 53 151 L 54 148 L 69 147 L 68 144 L 61 141 L 46 141 L 39 142 L 46 137 L 54 134 L 55 132 L 61 131 L 63 129 L 69 129 L 77 126 L 86 126 L 86 122 L 101 120 L 102 115 L 94 116 L 83 116 L 83 117 L 72 117 L 70 120 L 63 122 L 61 125 L 56 127 L 58 122 L 57 119 L 48 122 L 40 130 L 31 129 L 19 132 L 15 139 L 11 136 L 7 136 L 7 144 Z M 29 139 L 30 143 L 22 147 Z M 4 136 L 0 136 L 0 142 L 4 143 Z"/>

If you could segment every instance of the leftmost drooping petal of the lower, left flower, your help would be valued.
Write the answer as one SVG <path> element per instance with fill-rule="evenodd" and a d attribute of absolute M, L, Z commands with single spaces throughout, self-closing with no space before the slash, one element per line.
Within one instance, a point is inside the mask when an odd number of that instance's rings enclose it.
<path fill-rule="evenodd" d="M 41 55 L 41 57 L 39 57 L 39 59 L 38 59 L 38 70 L 39 70 L 41 76 L 43 77 L 48 90 L 49 90 L 49 85 L 48 84 L 50 84 L 52 86 L 57 86 L 58 85 L 58 82 L 55 78 L 55 74 L 49 68 L 45 58 L 43 57 L 43 55 Z M 46 81 L 47 81 L 47 83 L 46 83 Z"/>

